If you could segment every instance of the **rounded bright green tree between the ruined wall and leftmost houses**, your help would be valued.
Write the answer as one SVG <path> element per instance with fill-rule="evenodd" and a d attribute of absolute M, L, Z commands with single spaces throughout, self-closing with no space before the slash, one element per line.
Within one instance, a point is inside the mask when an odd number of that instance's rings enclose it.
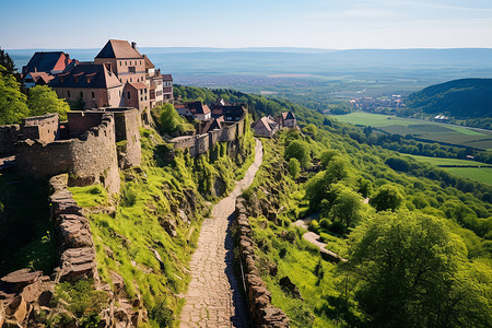
<path fill-rule="evenodd" d="M 31 116 L 58 113 L 60 120 L 66 120 L 67 112 L 70 110 L 69 104 L 65 99 L 58 98 L 57 93 L 47 85 L 36 85 L 30 89 L 27 107 L 31 109 Z"/>

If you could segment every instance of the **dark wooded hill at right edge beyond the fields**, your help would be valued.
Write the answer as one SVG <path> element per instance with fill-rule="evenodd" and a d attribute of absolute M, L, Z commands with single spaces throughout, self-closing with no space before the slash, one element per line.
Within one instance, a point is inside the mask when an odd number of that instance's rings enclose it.
<path fill-rule="evenodd" d="M 454 118 L 492 117 L 492 79 L 461 79 L 427 86 L 408 96 L 412 112 Z"/>

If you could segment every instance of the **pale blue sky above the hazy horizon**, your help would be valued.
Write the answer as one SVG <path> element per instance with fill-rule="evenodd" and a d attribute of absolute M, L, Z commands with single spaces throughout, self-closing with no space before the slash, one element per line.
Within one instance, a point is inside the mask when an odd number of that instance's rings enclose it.
<path fill-rule="evenodd" d="M 4 49 L 492 48 L 491 0 L 0 0 Z"/>

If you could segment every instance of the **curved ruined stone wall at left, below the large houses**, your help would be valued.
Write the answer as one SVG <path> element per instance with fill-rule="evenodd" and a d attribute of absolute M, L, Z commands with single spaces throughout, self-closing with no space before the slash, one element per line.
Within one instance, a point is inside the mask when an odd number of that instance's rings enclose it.
<path fill-rule="evenodd" d="M 102 183 L 109 192 L 119 191 L 115 124 L 112 114 L 103 114 L 101 125 L 77 139 L 43 143 L 38 140 L 16 144 L 20 172 L 35 177 L 69 173 L 70 184 L 86 186 Z"/>

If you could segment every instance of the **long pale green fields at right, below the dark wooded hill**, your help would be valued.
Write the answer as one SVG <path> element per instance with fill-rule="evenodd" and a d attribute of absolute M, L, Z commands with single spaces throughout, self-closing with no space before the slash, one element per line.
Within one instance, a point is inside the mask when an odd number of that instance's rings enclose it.
<path fill-rule="evenodd" d="M 352 125 L 378 128 L 388 133 L 401 136 L 412 134 L 417 138 L 436 142 L 460 144 L 484 150 L 492 149 L 492 131 L 364 112 L 353 112 L 348 115 L 331 117 Z"/>

